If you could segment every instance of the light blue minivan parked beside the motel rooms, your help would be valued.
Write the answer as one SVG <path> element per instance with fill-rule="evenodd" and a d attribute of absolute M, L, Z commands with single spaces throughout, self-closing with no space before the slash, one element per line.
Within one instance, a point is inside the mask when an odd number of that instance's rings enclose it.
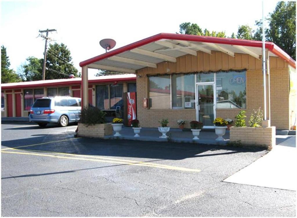
<path fill-rule="evenodd" d="M 31 107 L 29 120 L 45 127 L 48 123 L 66 127 L 78 122 L 81 99 L 69 96 L 43 97 L 36 99 Z"/>

